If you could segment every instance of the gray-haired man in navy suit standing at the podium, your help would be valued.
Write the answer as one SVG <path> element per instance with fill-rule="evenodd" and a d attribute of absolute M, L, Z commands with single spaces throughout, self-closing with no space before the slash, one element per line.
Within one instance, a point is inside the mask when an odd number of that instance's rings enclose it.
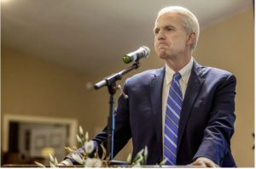
<path fill-rule="evenodd" d="M 114 155 L 132 138 L 133 157 L 148 146 L 148 165 L 166 159 L 166 165 L 236 166 L 230 150 L 236 77 L 195 62 L 198 37 L 198 21 L 188 9 L 160 10 L 154 48 L 166 65 L 126 80 L 129 99 L 119 97 Z M 106 145 L 107 128 L 93 140 Z"/>

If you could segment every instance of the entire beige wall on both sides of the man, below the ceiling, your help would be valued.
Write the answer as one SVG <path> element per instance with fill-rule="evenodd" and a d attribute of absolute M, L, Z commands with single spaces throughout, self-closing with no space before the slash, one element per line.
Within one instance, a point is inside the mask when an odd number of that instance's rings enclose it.
<path fill-rule="evenodd" d="M 163 62 L 152 53 L 139 70 L 124 79 L 139 71 L 162 66 Z M 232 150 L 238 166 L 253 166 L 252 8 L 203 29 L 194 56 L 201 65 L 230 70 L 236 75 L 237 118 Z M 93 137 L 106 124 L 108 92 L 106 88 L 88 91 L 85 83 L 97 82 L 110 73 L 89 77 L 65 66 L 26 56 L 12 48 L 2 48 L 2 114 L 77 118 Z M 117 159 L 125 160 L 131 152 L 131 143 L 122 152 Z"/>

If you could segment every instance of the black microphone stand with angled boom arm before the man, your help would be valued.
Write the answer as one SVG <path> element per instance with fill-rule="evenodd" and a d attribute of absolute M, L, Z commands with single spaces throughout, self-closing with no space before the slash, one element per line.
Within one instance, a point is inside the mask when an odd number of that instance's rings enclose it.
<path fill-rule="evenodd" d="M 116 93 L 116 82 L 121 80 L 122 77 L 130 72 L 131 70 L 137 69 L 140 66 L 140 63 L 136 61 L 131 67 L 126 68 L 125 70 L 121 70 L 118 73 L 114 73 L 110 76 L 103 78 L 101 82 L 97 82 L 95 84 L 95 89 L 99 89 L 104 86 L 108 86 L 108 93 L 110 94 L 109 97 L 109 116 L 108 116 L 108 144 L 107 144 L 107 156 L 110 156 L 110 160 L 113 161 L 113 135 L 114 135 L 114 124 L 115 119 L 114 113 L 114 100 L 113 95 Z"/>

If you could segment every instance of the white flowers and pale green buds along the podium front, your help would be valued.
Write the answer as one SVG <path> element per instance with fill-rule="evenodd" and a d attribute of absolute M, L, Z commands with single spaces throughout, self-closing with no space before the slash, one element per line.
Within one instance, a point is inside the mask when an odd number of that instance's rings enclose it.
<path fill-rule="evenodd" d="M 110 165 L 110 161 L 109 161 L 110 158 L 109 156 L 107 156 L 107 150 L 103 147 L 102 144 L 100 145 L 102 148 L 102 157 L 100 158 L 100 156 L 98 155 L 97 149 L 96 149 L 96 152 L 94 153 L 94 157 L 93 158 L 89 157 L 89 155 L 91 155 L 91 153 L 93 153 L 93 151 L 95 150 L 95 146 L 93 141 L 89 139 L 88 132 L 85 132 L 84 134 L 84 130 L 82 127 L 79 127 L 79 134 L 76 135 L 76 138 L 78 143 L 77 147 L 76 146 L 73 146 L 72 148 L 65 147 L 68 153 L 72 153 L 72 158 L 74 161 L 78 162 L 84 167 L 108 167 Z M 83 154 L 80 154 L 77 152 L 74 153 L 74 151 L 76 151 L 82 146 L 84 146 L 84 150 L 85 150 Z M 131 161 L 131 154 L 128 155 L 126 162 L 127 162 L 127 165 L 129 166 L 143 166 L 147 162 L 147 157 L 148 157 L 148 148 L 146 146 L 145 149 L 142 149 L 140 152 L 137 153 L 133 161 Z M 45 167 L 43 164 L 37 161 L 35 161 L 35 163 L 37 164 L 37 166 Z M 165 163 L 166 161 L 164 160 L 164 161 L 161 161 L 159 165 L 162 166 Z M 61 165 L 55 157 L 53 157 L 52 155 L 49 155 L 49 166 L 58 167 Z"/>

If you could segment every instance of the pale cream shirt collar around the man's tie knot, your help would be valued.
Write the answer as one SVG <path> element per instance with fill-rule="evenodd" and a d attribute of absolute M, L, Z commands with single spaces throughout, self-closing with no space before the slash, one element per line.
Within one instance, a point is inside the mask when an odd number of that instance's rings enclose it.
<path fill-rule="evenodd" d="M 178 72 L 180 73 L 181 80 L 187 85 L 189 82 L 189 75 L 192 70 L 193 66 L 193 57 L 191 57 L 189 63 L 183 67 L 183 69 L 179 70 Z M 172 70 L 168 65 L 166 65 L 166 84 L 169 85 L 172 81 L 172 76 L 175 73 L 174 70 Z"/>

